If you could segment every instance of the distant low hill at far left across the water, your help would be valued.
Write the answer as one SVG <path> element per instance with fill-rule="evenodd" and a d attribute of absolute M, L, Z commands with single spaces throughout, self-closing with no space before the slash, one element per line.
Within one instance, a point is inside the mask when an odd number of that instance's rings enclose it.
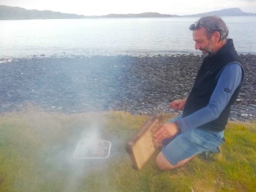
<path fill-rule="evenodd" d="M 24 9 L 0 5 L 0 19 L 38 19 L 38 18 L 84 18 L 83 15 L 54 12 L 51 10 Z"/>

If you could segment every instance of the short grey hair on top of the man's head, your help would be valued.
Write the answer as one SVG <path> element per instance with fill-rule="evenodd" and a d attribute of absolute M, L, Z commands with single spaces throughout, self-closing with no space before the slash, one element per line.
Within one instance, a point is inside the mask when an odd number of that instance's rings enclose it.
<path fill-rule="evenodd" d="M 223 39 L 227 40 L 229 35 L 229 29 L 221 18 L 217 16 L 202 17 L 198 21 L 193 23 L 189 27 L 189 29 L 193 31 L 199 29 L 202 26 L 205 27 L 206 36 L 208 38 L 210 38 L 215 31 L 218 31 L 220 34 L 219 41 Z"/>

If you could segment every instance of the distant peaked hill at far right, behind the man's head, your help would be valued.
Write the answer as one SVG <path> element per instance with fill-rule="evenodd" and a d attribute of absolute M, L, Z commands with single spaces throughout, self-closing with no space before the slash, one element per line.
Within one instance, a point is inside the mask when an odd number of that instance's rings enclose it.
<path fill-rule="evenodd" d="M 202 17 L 202 16 L 246 16 L 246 15 L 256 15 L 256 13 L 247 13 L 239 8 L 221 9 L 217 11 L 211 11 L 207 13 L 198 13 L 194 15 L 184 15 L 183 17 Z"/>

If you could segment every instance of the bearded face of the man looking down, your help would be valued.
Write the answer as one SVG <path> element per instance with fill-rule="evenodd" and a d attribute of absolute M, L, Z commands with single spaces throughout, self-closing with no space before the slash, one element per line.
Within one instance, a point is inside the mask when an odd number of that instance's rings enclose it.
<path fill-rule="evenodd" d="M 204 55 L 215 53 L 215 44 L 206 36 L 205 27 L 193 30 L 193 40 L 195 42 L 195 49 L 199 49 Z"/>

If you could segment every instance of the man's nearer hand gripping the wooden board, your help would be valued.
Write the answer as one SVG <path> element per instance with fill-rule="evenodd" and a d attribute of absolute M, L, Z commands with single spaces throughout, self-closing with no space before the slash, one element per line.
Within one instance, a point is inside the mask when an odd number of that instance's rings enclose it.
<path fill-rule="evenodd" d="M 165 123 L 155 132 L 155 142 L 162 143 L 162 141 L 169 137 L 174 137 L 179 132 L 179 128 L 175 123 Z"/>

